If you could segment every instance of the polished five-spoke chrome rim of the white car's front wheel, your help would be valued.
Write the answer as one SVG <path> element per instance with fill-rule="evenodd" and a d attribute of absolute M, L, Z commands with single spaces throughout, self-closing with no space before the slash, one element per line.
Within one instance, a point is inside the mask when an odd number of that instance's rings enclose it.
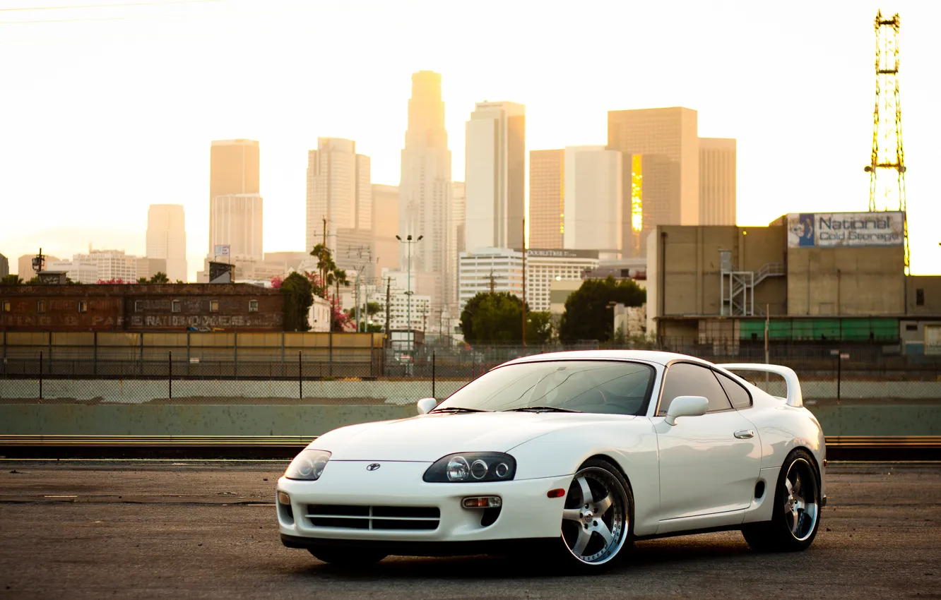
<path fill-rule="evenodd" d="M 582 468 L 568 488 L 562 512 L 562 538 L 585 564 L 602 564 L 617 555 L 630 526 L 627 493 L 610 471 Z"/>

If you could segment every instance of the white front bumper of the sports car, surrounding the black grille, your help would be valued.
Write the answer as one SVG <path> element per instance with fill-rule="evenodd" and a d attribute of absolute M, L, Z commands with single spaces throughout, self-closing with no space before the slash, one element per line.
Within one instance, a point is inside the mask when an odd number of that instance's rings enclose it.
<path fill-rule="evenodd" d="M 422 476 L 431 463 L 383 462 L 380 468 L 367 471 L 369 464 L 330 461 L 316 482 L 279 479 L 277 491 L 291 499 L 290 511 L 278 505 L 279 531 L 285 545 L 313 547 L 330 541 L 348 541 L 409 543 L 407 546 L 557 538 L 565 497 L 550 498 L 546 493 L 557 488 L 567 490 L 572 479 L 571 475 L 562 475 L 510 482 L 427 483 Z M 482 524 L 481 509 L 461 506 L 463 498 L 478 496 L 501 497 L 502 507 L 492 524 Z M 434 529 L 320 527 L 307 516 L 311 504 L 436 507 L 440 516 Z"/>

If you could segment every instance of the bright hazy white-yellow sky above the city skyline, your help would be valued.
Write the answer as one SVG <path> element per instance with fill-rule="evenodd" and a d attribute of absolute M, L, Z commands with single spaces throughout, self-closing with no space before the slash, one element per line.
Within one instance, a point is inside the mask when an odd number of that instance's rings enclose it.
<path fill-rule="evenodd" d="M 128 4 L 135 0 L 117 0 Z M 475 102 L 527 150 L 604 144 L 607 111 L 682 105 L 738 138 L 738 220 L 865 211 L 877 8 L 901 13 L 912 265 L 941 273 L 941 2 L 0 0 L 0 252 L 143 254 L 147 207 L 208 244 L 209 146 L 261 143 L 264 249 L 304 243 L 307 150 L 354 139 L 397 184 L 410 76 L 443 75 L 455 180 Z M 105 5 L 104 8 L 101 5 Z"/>

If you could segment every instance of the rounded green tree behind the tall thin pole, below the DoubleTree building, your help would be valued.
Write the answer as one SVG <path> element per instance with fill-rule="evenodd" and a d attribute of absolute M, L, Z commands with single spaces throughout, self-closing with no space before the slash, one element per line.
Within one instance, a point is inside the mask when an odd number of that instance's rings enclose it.
<path fill-rule="evenodd" d="M 474 343 L 518 344 L 522 342 L 522 308 L 519 297 L 510 292 L 480 292 L 461 311 L 464 340 Z M 526 341 L 543 344 L 552 337 L 548 312 L 526 309 Z"/>

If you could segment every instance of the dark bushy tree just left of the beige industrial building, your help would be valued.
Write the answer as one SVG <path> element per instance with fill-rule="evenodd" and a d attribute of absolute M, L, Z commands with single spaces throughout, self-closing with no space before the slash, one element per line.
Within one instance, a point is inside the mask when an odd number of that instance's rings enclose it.
<path fill-rule="evenodd" d="M 559 324 L 559 339 L 571 344 L 580 339 L 610 341 L 614 314 L 608 305 L 612 302 L 628 307 L 639 307 L 646 302 L 646 291 L 633 279 L 585 279 L 580 287 L 566 299 L 566 311 Z"/>

